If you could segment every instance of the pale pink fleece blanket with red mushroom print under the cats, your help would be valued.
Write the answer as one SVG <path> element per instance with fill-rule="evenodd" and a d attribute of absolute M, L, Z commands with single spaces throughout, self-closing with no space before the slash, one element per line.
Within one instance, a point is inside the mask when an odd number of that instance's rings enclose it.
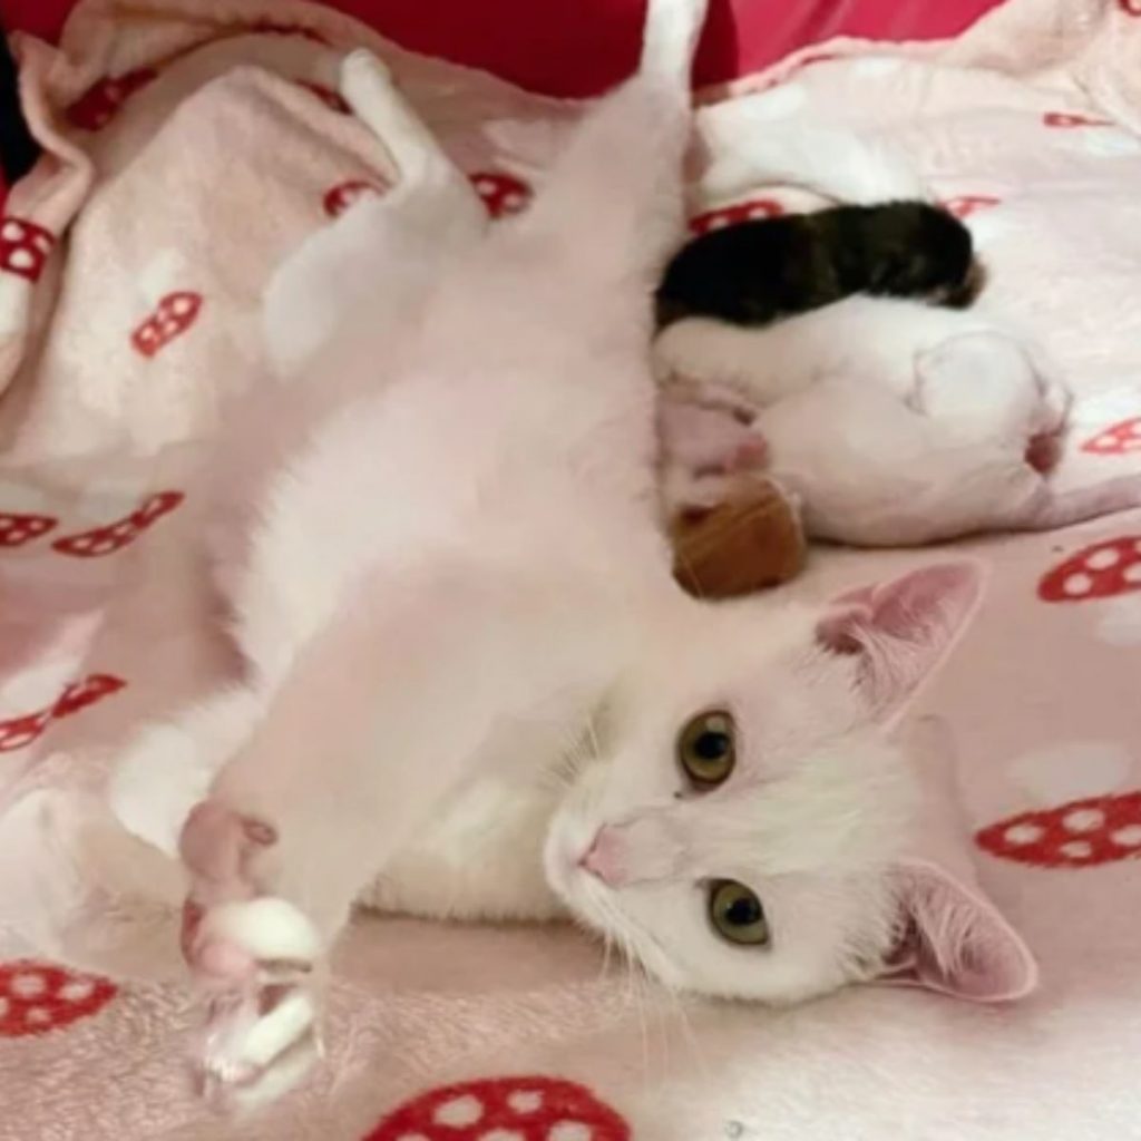
<path fill-rule="evenodd" d="M 316 1078 L 240 1125 L 195 1100 L 171 929 L 135 921 L 179 877 L 106 831 L 98 791 L 132 726 L 226 669 L 188 472 L 257 379 L 273 266 L 383 184 L 332 92 L 359 42 L 489 209 L 517 209 L 575 108 L 327 10 L 87 0 L 62 54 L 21 44 L 50 154 L 0 221 L 0 1138 L 1141 1135 L 1141 515 L 966 544 L 989 600 L 924 699 L 955 727 L 980 875 L 1041 958 L 1028 1003 L 681 1002 L 557 928 L 365 917 Z M 715 145 L 798 116 L 904 141 L 1079 394 L 1066 478 L 1141 464 L 1141 3 L 1008 0 L 955 42 L 837 42 L 723 98 L 703 112 Z M 702 212 L 790 202 L 758 187 Z M 830 553 L 794 589 L 923 557 Z M 83 863 L 92 836 L 107 858 Z M 65 948 L 115 981 L 52 966 Z"/>

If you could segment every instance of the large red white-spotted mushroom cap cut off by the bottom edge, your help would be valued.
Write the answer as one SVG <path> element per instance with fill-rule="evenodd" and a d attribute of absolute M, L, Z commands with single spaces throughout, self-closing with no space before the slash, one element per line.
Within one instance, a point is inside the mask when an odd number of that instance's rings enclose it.
<path fill-rule="evenodd" d="M 550 1077 L 489 1078 L 432 1090 L 364 1141 L 629 1141 L 630 1126 L 589 1090 Z"/>

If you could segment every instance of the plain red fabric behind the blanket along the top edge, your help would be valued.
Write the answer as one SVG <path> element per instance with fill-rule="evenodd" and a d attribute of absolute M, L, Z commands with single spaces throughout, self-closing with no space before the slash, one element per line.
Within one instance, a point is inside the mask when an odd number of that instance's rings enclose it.
<path fill-rule="evenodd" d="M 399 43 L 533 90 L 590 95 L 629 73 L 645 0 L 329 0 Z M 1002 0 L 712 0 L 697 82 L 745 75 L 834 35 L 955 35 Z M 0 0 L 11 29 L 54 38 L 71 0 Z"/>

